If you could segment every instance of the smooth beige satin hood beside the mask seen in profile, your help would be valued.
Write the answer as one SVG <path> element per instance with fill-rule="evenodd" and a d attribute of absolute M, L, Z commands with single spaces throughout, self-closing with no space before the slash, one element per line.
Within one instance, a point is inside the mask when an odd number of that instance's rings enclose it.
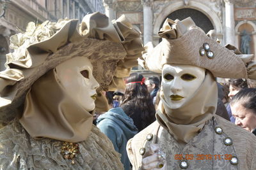
<path fill-rule="evenodd" d="M 19 121 L 32 138 L 79 142 L 90 134 L 92 120 L 93 113 L 73 101 L 51 69 L 29 89 Z"/>

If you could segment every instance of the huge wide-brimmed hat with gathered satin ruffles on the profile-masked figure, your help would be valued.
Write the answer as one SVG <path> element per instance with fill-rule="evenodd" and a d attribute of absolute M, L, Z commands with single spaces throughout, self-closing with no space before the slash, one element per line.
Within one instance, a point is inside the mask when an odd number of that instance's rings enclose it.
<path fill-rule="evenodd" d="M 0 72 L 0 123 L 20 114 L 24 97 L 40 76 L 72 57 L 88 57 L 100 90 L 124 88 L 122 78 L 138 64 L 143 45 L 141 32 L 125 16 L 109 22 L 101 13 L 77 20 L 29 23 L 26 32 L 10 38 L 13 53 L 6 55 L 6 69 Z"/>

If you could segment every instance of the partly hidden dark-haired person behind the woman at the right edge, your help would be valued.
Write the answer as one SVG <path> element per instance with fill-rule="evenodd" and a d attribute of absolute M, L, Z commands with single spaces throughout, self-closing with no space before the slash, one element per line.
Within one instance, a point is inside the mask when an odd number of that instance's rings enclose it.
<path fill-rule="evenodd" d="M 235 96 L 241 89 L 248 88 L 247 80 L 245 78 L 237 78 L 237 79 L 230 79 L 230 85 L 229 85 L 229 93 L 228 97 L 230 100 L 233 96 Z M 230 118 L 230 122 L 235 122 L 236 118 L 232 116 L 232 111 L 230 109 L 230 104 L 227 104 L 227 111 L 228 116 Z"/>

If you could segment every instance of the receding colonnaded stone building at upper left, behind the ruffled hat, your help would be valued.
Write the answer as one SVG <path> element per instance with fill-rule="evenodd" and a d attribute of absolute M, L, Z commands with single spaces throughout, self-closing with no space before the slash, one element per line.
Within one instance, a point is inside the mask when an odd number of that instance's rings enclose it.
<path fill-rule="evenodd" d="M 3 0 L 1 0 L 3 1 Z M 9 48 L 10 36 L 26 30 L 28 22 L 42 23 L 58 18 L 77 18 L 80 21 L 86 13 L 105 12 L 102 0 L 6 0 L 4 17 L 0 17 L 0 70 L 4 69 L 5 54 Z M 0 13 L 3 11 L 0 3 Z"/>

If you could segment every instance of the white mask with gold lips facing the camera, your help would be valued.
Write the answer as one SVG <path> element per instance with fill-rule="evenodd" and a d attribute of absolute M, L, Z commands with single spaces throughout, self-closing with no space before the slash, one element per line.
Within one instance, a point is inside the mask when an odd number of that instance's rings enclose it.
<path fill-rule="evenodd" d="M 162 87 L 164 100 L 171 109 L 188 101 L 205 78 L 205 69 L 184 64 L 164 64 Z"/>

